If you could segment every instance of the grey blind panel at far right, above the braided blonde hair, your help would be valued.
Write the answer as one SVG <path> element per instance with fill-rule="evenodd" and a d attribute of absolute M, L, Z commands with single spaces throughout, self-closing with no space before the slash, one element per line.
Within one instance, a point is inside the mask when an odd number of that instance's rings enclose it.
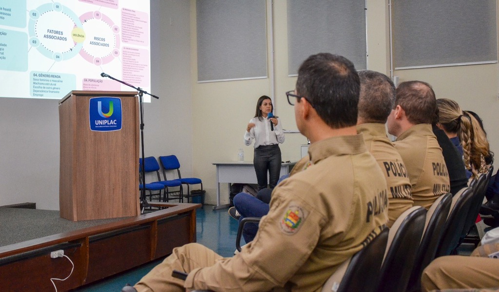
<path fill-rule="evenodd" d="M 497 61 L 495 0 L 394 0 L 395 69 Z"/>

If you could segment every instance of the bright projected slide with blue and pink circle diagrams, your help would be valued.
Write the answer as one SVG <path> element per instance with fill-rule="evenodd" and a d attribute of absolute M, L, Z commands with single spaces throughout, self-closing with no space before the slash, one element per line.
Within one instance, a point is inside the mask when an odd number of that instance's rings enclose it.
<path fill-rule="evenodd" d="M 149 0 L 0 1 L 0 97 L 133 90 L 102 72 L 150 91 L 149 15 Z"/>

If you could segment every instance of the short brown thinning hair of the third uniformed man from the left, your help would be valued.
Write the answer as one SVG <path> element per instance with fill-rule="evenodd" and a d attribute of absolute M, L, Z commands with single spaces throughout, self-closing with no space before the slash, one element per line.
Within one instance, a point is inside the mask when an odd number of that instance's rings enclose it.
<path fill-rule="evenodd" d="M 437 107 L 435 92 L 423 81 L 406 81 L 397 86 L 395 105 L 405 111 L 407 120 L 413 124 L 432 124 Z"/>

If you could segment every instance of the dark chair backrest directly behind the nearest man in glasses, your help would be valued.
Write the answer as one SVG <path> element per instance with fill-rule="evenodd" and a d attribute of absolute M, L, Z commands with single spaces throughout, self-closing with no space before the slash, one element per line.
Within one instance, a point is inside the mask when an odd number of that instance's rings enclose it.
<path fill-rule="evenodd" d="M 388 228 L 384 228 L 366 247 L 343 262 L 322 287 L 322 292 L 362 291 L 374 292 L 383 252 L 388 241 Z"/>

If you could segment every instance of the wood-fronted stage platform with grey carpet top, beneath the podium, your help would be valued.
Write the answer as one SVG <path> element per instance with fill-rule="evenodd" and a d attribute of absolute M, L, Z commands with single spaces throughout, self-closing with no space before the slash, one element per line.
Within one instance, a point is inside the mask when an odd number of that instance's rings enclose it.
<path fill-rule="evenodd" d="M 138 267 L 196 242 L 201 204 L 155 203 L 140 216 L 73 222 L 58 211 L 0 207 L 0 291 L 69 291 Z"/>

